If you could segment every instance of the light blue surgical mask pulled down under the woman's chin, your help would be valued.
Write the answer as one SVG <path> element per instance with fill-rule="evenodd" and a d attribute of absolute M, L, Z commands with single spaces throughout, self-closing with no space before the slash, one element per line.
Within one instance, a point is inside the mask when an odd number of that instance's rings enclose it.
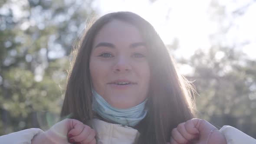
<path fill-rule="evenodd" d="M 132 108 L 114 108 L 102 98 L 95 90 L 92 90 L 92 110 L 108 121 L 127 126 L 135 126 L 147 115 L 146 101 Z"/>

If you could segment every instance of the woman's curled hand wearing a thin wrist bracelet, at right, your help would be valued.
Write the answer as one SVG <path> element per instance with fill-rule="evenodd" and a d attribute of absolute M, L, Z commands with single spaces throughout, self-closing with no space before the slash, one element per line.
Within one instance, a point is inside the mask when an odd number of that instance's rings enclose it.
<path fill-rule="evenodd" d="M 225 136 L 203 119 L 178 124 L 171 132 L 171 144 L 226 144 Z"/>

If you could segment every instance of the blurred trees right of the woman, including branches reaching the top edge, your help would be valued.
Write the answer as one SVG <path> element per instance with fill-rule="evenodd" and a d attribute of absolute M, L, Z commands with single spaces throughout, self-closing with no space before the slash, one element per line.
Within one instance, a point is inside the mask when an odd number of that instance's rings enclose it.
<path fill-rule="evenodd" d="M 230 13 L 227 3 L 212 0 L 210 19 L 218 30 L 210 36 L 211 48 L 198 49 L 190 58 L 178 62 L 193 71 L 187 78 L 194 81 L 200 95 L 196 98 L 200 118 L 217 127 L 234 126 L 256 138 L 256 57 L 249 58 L 243 52 L 243 47 L 252 42 L 230 44 L 226 36 L 236 26 L 235 20 L 254 2 L 243 3 Z M 237 37 L 241 40 L 238 33 Z M 175 49 L 172 51 L 175 53 Z"/>

